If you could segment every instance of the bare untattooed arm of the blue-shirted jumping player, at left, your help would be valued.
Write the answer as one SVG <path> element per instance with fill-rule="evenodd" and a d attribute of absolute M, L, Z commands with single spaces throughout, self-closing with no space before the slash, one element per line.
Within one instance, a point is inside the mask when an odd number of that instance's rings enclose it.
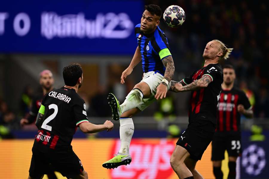
<path fill-rule="evenodd" d="M 120 77 L 120 83 L 123 84 L 125 83 L 124 79 L 130 75 L 133 71 L 133 69 L 135 68 L 135 66 L 142 60 L 141 58 L 141 53 L 140 53 L 140 50 L 139 50 L 139 47 L 137 46 L 136 50 L 135 50 L 135 55 L 129 65 L 128 68 L 126 68 L 126 70 L 124 70 L 122 72 L 122 75 Z"/>

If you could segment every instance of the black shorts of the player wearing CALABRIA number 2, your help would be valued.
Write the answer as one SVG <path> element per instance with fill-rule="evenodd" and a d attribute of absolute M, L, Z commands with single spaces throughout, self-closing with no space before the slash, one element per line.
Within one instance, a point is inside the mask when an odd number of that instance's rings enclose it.
<path fill-rule="evenodd" d="M 30 177 L 40 178 L 42 175 L 50 174 L 51 171 L 57 171 L 64 177 L 73 178 L 84 170 L 80 159 L 72 149 L 44 153 L 33 147 L 32 152 Z"/>

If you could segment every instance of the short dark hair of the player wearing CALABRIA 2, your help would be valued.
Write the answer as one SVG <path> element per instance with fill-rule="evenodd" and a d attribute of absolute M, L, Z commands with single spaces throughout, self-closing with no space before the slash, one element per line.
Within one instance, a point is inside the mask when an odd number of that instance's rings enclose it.
<path fill-rule="evenodd" d="M 79 78 L 82 77 L 82 68 L 79 64 L 71 64 L 63 68 L 62 76 L 65 81 L 65 85 L 74 87 L 77 84 Z"/>

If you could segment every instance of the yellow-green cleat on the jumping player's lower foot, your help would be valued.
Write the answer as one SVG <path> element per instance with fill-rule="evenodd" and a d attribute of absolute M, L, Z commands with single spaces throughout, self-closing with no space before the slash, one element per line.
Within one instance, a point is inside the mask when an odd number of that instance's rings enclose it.
<path fill-rule="evenodd" d="M 107 169 L 114 169 L 121 165 L 130 164 L 132 157 L 129 154 L 117 154 L 115 157 L 111 158 L 109 161 L 103 163 L 103 167 Z"/>

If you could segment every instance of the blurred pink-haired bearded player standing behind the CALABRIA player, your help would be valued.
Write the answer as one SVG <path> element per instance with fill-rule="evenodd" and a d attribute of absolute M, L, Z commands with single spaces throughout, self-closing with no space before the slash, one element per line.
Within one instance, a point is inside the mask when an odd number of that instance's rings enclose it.
<path fill-rule="evenodd" d="M 43 70 L 39 73 L 39 84 L 42 88 L 42 92 L 38 91 L 33 97 L 30 112 L 20 121 L 22 126 L 25 124 L 33 124 L 36 120 L 43 96 L 53 90 L 54 78 L 50 70 Z"/>

